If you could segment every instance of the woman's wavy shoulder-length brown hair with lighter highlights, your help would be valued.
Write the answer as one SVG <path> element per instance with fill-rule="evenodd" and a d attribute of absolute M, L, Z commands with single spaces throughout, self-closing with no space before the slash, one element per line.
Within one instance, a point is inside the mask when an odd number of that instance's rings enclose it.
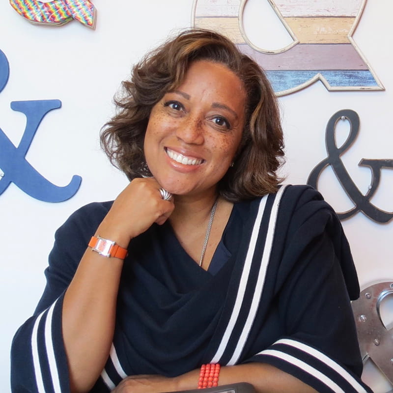
<path fill-rule="evenodd" d="M 123 91 L 114 99 L 117 113 L 101 130 L 101 146 L 130 180 L 151 175 L 143 154 L 150 112 L 182 83 L 190 63 L 201 59 L 224 64 L 243 82 L 247 93 L 242 140 L 218 192 L 232 202 L 275 192 L 281 181 L 276 171 L 284 155 L 276 96 L 260 66 L 214 31 L 183 31 L 133 67 L 131 81 L 123 81 Z"/>

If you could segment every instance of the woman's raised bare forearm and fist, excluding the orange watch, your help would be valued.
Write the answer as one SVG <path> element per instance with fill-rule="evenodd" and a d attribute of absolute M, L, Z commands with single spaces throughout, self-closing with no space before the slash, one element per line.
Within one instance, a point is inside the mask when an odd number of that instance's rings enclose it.
<path fill-rule="evenodd" d="M 127 248 L 154 222 L 163 224 L 174 209 L 153 178 L 134 179 L 116 198 L 96 236 Z M 111 349 L 123 261 L 87 249 L 65 296 L 62 328 L 72 393 L 88 392 Z M 132 312 L 132 310 L 129 310 Z"/>

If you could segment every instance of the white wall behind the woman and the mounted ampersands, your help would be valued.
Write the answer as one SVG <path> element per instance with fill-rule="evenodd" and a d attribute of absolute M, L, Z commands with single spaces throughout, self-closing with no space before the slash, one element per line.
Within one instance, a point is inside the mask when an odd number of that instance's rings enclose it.
<path fill-rule="evenodd" d="M 248 7 L 256 3 L 249 0 Z M 61 203 L 35 200 L 13 184 L 0 195 L 1 392 L 10 390 L 11 339 L 32 313 L 45 284 L 43 270 L 54 231 L 81 205 L 113 199 L 127 183 L 99 148 L 99 130 L 113 112 L 112 96 L 132 63 L 169 33 L 190 26 L 193 1 L 95 0 L 94 5 L 98 19 L 96 29 L 90 30 L 76 21 L 57 28 L 34 26 L 8 1 L 0 3 L 0 49 L 10 64 L 8 84 L 0 92 L 0 128 L 18 145 L 25 117 L 12 111 L 10 102 L 61 100 L 62 108 L 44 118 L 27 159 L 56 185 L 68 184 L 74 174 L 83 178 L 78 193 Z M 390 0 L 368 0 L 354 34 L 386 91 L 328 92 L 318 82 L 280 98 L 287 182 L 305 183 L 310 170 L 326 157 L 325 127 L 341 109 L 352 109 L 361 119 L 359 136 L 343 161 L 362 192 L 371 174 L 358 167 L 360 159 L 393 159 L 392 14 Z M 281 28 L 276 22 L 261 16 L 261 25 Z M 351 207 L 330 168 L 322 173 L 320 184 L 337 211 Z M 373 203 L 393 211 L 392 191 L 393 170 L 383 169 Z M 392 222 L 376 224 L 362 213 L 343 221 L 362 287 L 393 279 Z M 377 393 L 391 389 L 385 382 L 375 387 Z"/>

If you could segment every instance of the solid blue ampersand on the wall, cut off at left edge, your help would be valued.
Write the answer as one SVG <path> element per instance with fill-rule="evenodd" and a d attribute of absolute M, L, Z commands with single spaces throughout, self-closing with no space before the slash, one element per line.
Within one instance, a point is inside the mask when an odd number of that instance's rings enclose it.
<path fill-rule="evenodd" d="M 0 50 L 0 91 L 8 81 L 9 65 Z M 56 186 L 42 176 L 26 160 L 31 141 L 44 116 L 53 109 L 60 108 L 60 100 L 13 101 L 11 109 L 26 115 L 27 122 L 22 139 L 16 147 L 0 128 L 0 195 L 12 183 L 30 197 L 44 202 L 61 202 L 73 197 L 78 191 L 82 178 L 74 175 L 64 187 Z"/>

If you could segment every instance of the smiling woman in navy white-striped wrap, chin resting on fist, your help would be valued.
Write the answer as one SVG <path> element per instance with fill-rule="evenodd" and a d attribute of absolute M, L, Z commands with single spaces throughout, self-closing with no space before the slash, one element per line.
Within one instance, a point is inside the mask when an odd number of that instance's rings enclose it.
<path fill-rule="evenodd" d="M 130 184 L 57 230 L 13 341 L 13 391 L 195 389 L 212 363 L 220 385 L 257 392 L 370 392 L 347 241 L 316 191 L 278 186 L 279 111 L 259 66 L 192 30 L 123 86 L 102 143 Z"/>

